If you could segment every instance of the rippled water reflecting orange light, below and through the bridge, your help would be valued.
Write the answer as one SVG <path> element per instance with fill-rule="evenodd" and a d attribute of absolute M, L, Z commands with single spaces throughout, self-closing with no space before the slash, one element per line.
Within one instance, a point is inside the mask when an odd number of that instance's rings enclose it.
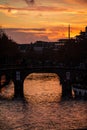
<path fill-rule="evenodd" d="M 55 74 L 31 74 L 25 100 L 12 100 L 13 84 L 2 89 L 0 130 L 70 130 L 87 128 L 87 102 L 64 100 Z"/>

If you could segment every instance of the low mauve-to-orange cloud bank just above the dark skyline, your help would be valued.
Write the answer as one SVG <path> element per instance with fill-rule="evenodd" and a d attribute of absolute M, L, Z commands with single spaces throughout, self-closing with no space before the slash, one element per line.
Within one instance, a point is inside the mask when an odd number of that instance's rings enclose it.
<path fill-rule="evenodd" d="M 68 27 L 64 25 L 49 28 L 5 28 L 5 32 L 17 43 L 35 41 L 57 41 L 68 37 Z M 80 28 L 71 26 L 71 37 L 77 35 Z"/>

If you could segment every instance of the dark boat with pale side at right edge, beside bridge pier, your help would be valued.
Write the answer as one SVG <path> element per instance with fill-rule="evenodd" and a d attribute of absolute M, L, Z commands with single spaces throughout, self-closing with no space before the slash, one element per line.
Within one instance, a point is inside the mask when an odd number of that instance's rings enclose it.
<path fill-rule="evenodd" d="M 86 84 L 73 84 L 72 90 L 74 96 L 79 98 L 87 98 L 87 85 Z"/>

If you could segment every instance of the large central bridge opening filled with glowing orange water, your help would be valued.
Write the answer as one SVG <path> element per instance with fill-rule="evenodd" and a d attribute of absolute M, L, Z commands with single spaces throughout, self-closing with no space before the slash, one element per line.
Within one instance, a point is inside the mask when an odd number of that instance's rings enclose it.
<path fill-rule="evenodd" d="M 24 95 L 30 102 L 52 102 L 61 98 L 60 77 L 55 73 L 31 73 L 23 86 Z"/>

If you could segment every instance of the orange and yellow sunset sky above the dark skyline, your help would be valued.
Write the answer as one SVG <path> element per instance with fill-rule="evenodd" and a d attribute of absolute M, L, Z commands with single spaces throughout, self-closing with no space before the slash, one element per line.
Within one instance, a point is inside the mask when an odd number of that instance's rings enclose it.
<path fill-rule="evenodd" d="M 84 31 L 87 0 L 0 0 L 0 26 L 17 43 L 57 41 Z"/>

